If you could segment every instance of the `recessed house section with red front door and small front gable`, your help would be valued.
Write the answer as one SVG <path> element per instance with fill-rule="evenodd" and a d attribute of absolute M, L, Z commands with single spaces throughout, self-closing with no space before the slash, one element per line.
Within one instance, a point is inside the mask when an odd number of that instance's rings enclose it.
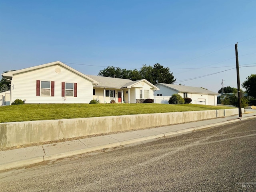
<path fill-rule="evenodd" d="M 93 87 L 93 98 L 100 102 L 142 103 L 145 99 L 154 99 L 154 90 L 159 90 L 146 79 L 132 81 L 112 77 L 87 75 L 99 82 Z"/>

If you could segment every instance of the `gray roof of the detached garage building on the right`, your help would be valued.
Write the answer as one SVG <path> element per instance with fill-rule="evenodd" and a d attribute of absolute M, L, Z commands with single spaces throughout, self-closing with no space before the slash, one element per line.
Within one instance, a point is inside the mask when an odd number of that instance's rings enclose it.
<path fill-rule="evenodd" d="M 184 92 L 184 93 L 204 93 L 204 94 L 215 94 L 217 95 L 218 93 L 206 90 L 204 88 L 200 87 L 190 87 L 190 86 L 183 86 L 183 85 L 174 85 L 174 84 L 166 84 L 166 83 L 158 83 L 163 86 L 166 86 L 168 88 L 172 88 L 174 90 L 177 90 L 178 92 Z M 157 86 L 157 84 L 156 84 Z"/>

